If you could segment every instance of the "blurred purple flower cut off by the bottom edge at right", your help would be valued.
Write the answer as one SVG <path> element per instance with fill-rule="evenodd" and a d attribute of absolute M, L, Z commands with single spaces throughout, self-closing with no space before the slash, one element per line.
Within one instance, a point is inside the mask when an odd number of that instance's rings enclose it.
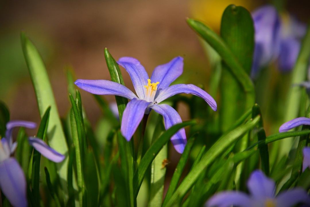
<path fill-rule="evenodd" d="M 290 207 L 298 203 L 310 205 L 310 197 L 302 188 L 295 188 L 281 192 L 275 196 L 275 183 L 267 178 L 260 170 L 255 170 L 247 182 L 250 195 L 243 192 L 226 191 L 212 196 L 206 206 L 208 207 Z"/>

